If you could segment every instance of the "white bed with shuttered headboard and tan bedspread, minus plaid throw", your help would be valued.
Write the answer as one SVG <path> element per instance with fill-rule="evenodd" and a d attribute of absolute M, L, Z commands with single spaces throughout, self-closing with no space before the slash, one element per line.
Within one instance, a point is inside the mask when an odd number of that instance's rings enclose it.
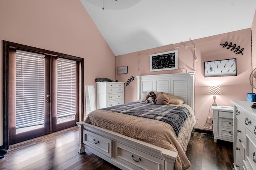
<path fill-rule="evenodd" d="M 145 92 L 172 94 L 184 104 L 159 107 L 183 108 L 189 116 L 180 129 L 164 121 L 116 112 L 116 108 L 97 109 L 79 127 L 78 152 L 88 150 L 111 164 L 125 169 L 179 170 L 190 166 L 186 148 L 195 124 L 194 72 L 136 76 L 137 107 L 155 107 L 140 100 Z M 127 104 L 128 105 L 128 104 Z M 142 106 L 143 105 L 143 106 Z M 127 109 L 130 111 L 130 109 Z M 153 110 L 153 109 L 152 109 Z M 158 109 L 156 109 L 158 110 Z M 116 123 L 113 123 L 113 122 Z M 150 131 L 149 131 L 150 130 Z"/>

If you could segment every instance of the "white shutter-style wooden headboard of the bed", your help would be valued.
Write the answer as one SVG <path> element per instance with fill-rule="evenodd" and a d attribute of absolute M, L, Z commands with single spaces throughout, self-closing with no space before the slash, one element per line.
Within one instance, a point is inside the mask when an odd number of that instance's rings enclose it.
<path fill-rule="evenodd" d="M 142 92 L 166 92 L 178 96 L 194 111 L 195 72 L 136 76 L 138 79 L 138 100 Z"/>

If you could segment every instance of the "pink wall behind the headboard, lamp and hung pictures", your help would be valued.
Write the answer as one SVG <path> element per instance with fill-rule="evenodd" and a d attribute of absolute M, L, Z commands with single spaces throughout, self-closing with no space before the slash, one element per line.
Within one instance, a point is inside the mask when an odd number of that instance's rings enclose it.
<path fill-rule="evenodd" d="M 232 42 L 244 48 L 243 55 L 236 55 L 233 51 L 223 48 L 220 43 Z M 196 57 L 194 57 L 194 46 Z M 150 72 L 149 55 L 165 51 L 178 50 L 178 70 Z M 195 60 L 195 58 L 197 58 Z M 237 61 L 237 76 L 204 77 L 204 62 L 233 59 Z M 246 100 L 246 93 L 251 92 L 249 76 L 251 72 L 251 33 L 250 29 L 234 31 L 212 37 L 205 37 L 186 41 L 174 45 L 148 49 L 136 53 L 116 57 L 116 67 L 128 66 L 128 74 L 116 74 L 116 79 L 126 82 L 131 76 L 168 74 L 175 72 L 196 72 L 195 75 L 195 115 L 198 123 L 204 125 L 212 105 L 213 98 L 208 94 L 209 85 L 220 85 L 221 95 L 217 96 L 218 105 L 232 106 L 230 100 Z M 125 101 L 137 100 L 137 80 L 125 87 Z M 212 117 L 210 110 L 209 117 Z M 196 124 L 196 128 L 203 129 Z M 209 124 L 206 124 L 206 127 Z M 208 129 L 207 129 L 208 130 Z"/>

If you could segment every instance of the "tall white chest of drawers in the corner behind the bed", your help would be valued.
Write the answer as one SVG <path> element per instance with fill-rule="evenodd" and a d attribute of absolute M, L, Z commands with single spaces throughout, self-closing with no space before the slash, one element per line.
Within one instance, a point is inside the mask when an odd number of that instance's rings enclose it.
<path fill-rule="evenodd" d="M 96 82 L 97 108 L 124 104 L 124 82 Z"/>

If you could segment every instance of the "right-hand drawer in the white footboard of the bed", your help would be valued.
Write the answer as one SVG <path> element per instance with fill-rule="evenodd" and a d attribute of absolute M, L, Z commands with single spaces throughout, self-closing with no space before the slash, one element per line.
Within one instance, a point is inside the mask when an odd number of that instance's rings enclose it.
<path fill-rule="evenodd" d="M 164 160 L 115 142 L 114 158 L 136 170 L 164 170 Z"/>

